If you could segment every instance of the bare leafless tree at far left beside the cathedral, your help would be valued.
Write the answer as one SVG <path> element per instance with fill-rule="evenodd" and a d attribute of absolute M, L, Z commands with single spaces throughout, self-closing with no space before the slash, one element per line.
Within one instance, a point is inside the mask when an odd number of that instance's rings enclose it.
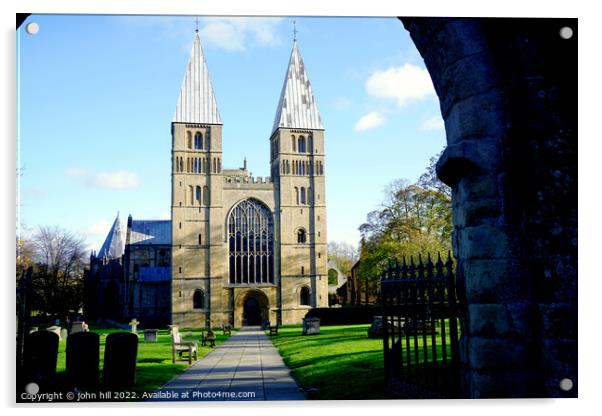
<path fill-rule="evenodd" d="M 26 244 L 34 272 L 34 309 L 64 316 L 82 305 L 87 250 L 84 239 L 59 227 L 41 226 Z"/>

